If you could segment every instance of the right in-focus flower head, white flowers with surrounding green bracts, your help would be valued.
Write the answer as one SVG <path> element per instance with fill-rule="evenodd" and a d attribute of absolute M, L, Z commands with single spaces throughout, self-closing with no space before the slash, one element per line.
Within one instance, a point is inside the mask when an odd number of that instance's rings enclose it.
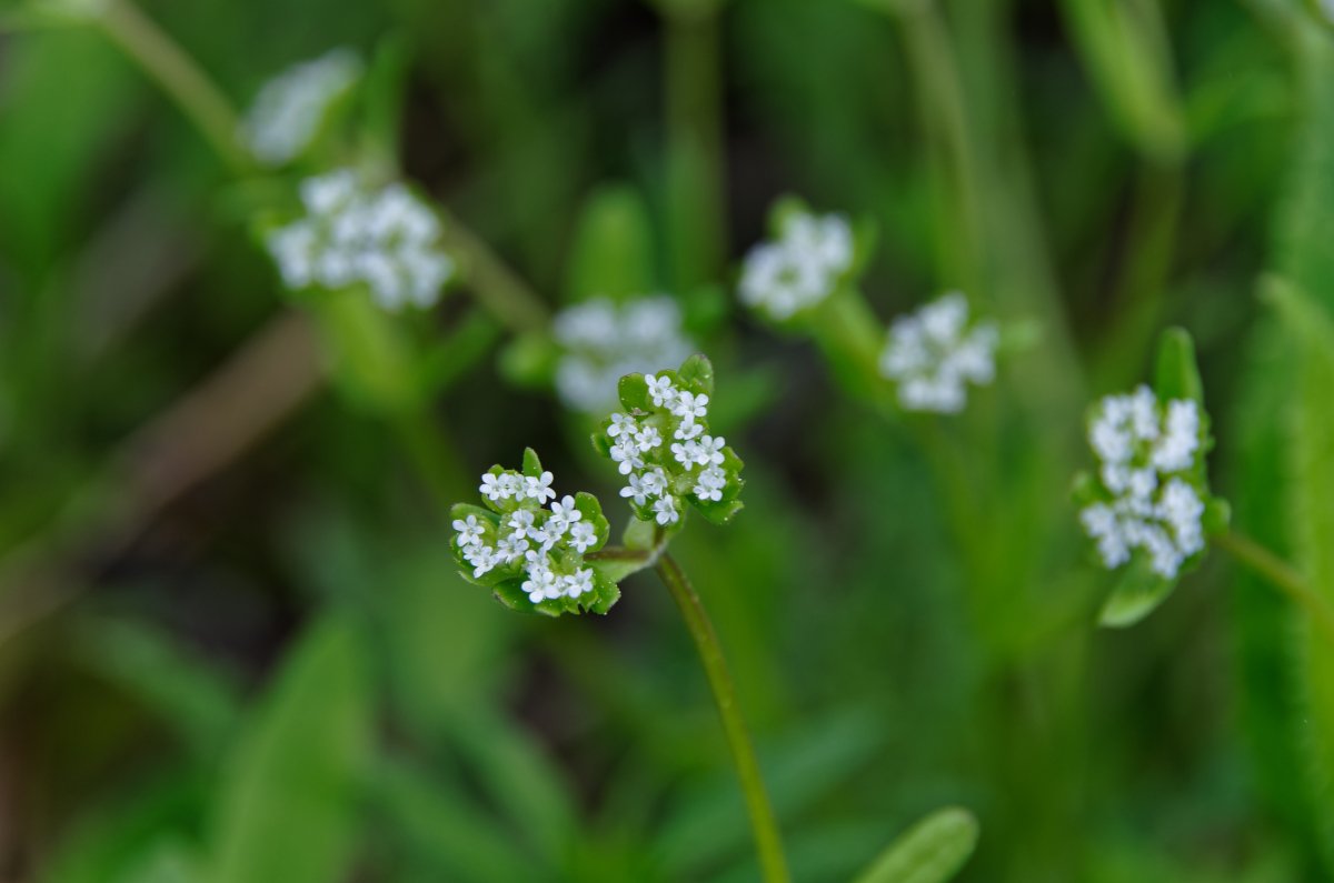
<path fill-rule="evenodd" d="M 731 520 L 742 508 L 742 462 L 708 428 L 708 360 L 696 355 L 679 371 L 628 375 L 619 392 L 622 411 L 603 420 L 592 440 L 626 476 L 620 495 L 635 518 L 675 530 L 690 503 L 710 522 Z"/>

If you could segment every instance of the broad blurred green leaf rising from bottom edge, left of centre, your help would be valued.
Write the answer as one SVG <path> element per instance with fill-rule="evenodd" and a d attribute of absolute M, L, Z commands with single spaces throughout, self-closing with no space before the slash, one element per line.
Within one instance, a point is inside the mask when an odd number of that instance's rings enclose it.
<path fill-rule="evenodd" d="M 362 638 L 325 616 L 284 660 L 219 783 L 212 883 L 347 878 L 371 718 Z"/>

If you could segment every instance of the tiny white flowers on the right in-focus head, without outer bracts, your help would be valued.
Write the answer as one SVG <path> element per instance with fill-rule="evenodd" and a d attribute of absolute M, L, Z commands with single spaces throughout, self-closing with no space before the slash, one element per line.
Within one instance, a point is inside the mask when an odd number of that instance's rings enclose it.
<path fill-rule="evenodd" d="M 667 375 L 647 375 L 654 412 L 612 413 L 607 454 L 628 484 L 620 496 L 662 527 L 680 520 L 683 495 L 718 503 L 731 476 L 723 467 L 727 440 L 708 435 L 708 396 L 682 389 Z"/>

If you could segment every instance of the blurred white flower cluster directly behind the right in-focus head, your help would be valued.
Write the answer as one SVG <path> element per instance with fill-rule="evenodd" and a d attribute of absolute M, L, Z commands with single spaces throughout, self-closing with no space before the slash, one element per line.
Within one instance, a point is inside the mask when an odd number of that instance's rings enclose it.
<path fill-rule="evenodd" d="M 620 305 L 595 297 L 562 309 L 552 333 L 564 349 L 556 392 L 568 407 L 586 412 L 614 407 L 624 375 L 680 364 L 695 349 L 682 332 L 676 301 L 667 296 Z"/>

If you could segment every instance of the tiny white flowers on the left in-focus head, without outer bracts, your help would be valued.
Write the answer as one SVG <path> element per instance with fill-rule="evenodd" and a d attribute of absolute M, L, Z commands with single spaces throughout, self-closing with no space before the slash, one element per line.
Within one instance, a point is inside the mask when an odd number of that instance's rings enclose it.
<path fill-rule="evenodd" d="M 551 480 L 551 472 L 492 470 L 482 476 L 478 490 L 499 518 L 470 512 L 454 520 L 459 554 L 474 579 L 492 571 L 500 579 L 522 579 L 534 604 L 594 592 L 594 571 L 583 567 L 583 555 L 600 546 L 598 527 L 575 498 L 556 500 Z"/>

